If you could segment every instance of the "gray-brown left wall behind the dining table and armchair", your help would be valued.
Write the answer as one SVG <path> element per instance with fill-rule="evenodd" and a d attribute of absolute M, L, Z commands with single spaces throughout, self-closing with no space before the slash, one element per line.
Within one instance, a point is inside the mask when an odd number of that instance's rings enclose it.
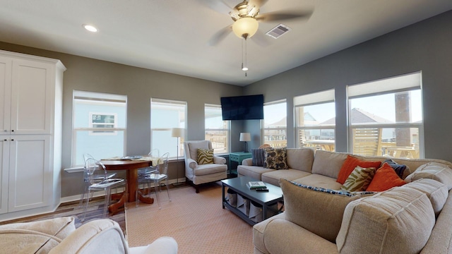
<path fill-rule="evenodd" d="M 73 90 L 109 92 L 127 95 L 127 155 L 145 155 L 150 151 L 150 97 L 176 99 L 188 103 L 186 140 L 204 139 L 204 104 L 220 104 L 220 97 L 242 95 L 243 87 L 189 78 L 182 75 L 125 66 L 81 56 L 49 52 L 0 42 L 0 49 L 60 59 L 64 72 L 63 168 L 71 167 L 72 92 Z M 165 121 L 165 119 L 162 119 Z M 232 150 L 238 149 L 243 123 L 232 123 Z M 235 137 L 237 134 L 237 137 Z M 237 141 L 235 141 L 237 140 Z M 175 149 L 176 147 L 174 147 Z M 176 179 L 176 164 L 169 165 L 169 179 Z M 184 176 L 179 162 L 179 177 Z M 61 197 L 81 192 L 82 174 L 62 174 Z"/>

